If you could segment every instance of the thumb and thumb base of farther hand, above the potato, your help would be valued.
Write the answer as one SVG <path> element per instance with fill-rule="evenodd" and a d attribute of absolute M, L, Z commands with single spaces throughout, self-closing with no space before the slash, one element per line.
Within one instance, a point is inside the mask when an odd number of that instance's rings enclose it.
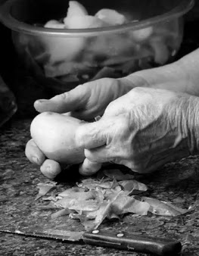
<path fill-rule="evenodd" d="M 67 113 L 81 120 L 93 120 L 101 116 L 107 105 L 132 89 L 128 80 L 103 78 L 77 86 L 70 92 L 57 95 L 51 100 L 35 102 L 39 112 Z"/>

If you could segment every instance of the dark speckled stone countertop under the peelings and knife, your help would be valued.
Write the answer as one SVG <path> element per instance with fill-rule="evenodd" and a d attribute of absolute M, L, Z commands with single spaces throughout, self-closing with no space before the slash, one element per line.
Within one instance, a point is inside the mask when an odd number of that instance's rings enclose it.
<path fill-rule="evenodd" d="M 37 208 L 42 201 L 35 201 L 36 185 L 46 179 L 39 167 L 27 161 L 24 148 L 30 139 L 31 120 L 11 120 L 0 132 L 0 225 L 67 226 L 70 230 L 83 230 L 80 223 L 68 217 L 51 220 L 53 210 Z M 178 239 L 183 245 L 183 256 L 199 255 L 199 157 L 190 157 L 170 163 L 148 176 L 136 176 L 136 180 L 148 185 L 146 195 L 162 201 L 170 201 L 192 211 L 179 217 L 137 217 L 128 214 L 116 222 L 106 221 L 101 229 L 113 232 L 128 231 L 135 234 Z M 72 185 L 62 180 L 60 188 Z M 76 176 L 78 179 L 78 176 Z M 69 244 L 47 239 L 0 233 L 0 255 L 144 255 L 91 245 Z"/>

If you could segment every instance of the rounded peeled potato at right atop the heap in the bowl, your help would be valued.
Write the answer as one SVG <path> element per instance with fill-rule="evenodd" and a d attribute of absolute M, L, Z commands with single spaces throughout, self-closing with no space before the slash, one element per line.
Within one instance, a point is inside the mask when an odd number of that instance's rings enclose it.
<path fill-rule="evenodd" d="M 109 25 L 121 25 L 126 22 L 126 17 L 119 12 L 112 9 L 101 9 L 95 14 L 95 17 L 98 17 Z"/>

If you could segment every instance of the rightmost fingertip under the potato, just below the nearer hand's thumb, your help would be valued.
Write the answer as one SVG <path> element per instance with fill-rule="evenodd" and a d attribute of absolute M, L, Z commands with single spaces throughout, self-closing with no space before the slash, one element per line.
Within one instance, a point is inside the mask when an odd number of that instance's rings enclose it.
<path fill-rule="evenodd" d="M 79 173 L 83 176 L 91 176 L 101 169 L 101 163 L 94 163 L 85 159 L 83 163 L 79 166 Z"/>

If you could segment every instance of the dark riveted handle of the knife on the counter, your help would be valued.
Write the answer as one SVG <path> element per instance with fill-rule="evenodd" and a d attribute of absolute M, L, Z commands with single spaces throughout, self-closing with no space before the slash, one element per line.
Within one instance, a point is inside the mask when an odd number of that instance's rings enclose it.
<path fill-rule="evenodd" d="M 107 246 L 112 248 L 138 251 L 142 253 L 156 254 L 162 256 L 176 255 L 181 252 L 182 245 L 173 239 L 135 235 L 130 233 L 117 233 L 93 230 L 86 232 L 82 237 L 86 244 Z"/>

